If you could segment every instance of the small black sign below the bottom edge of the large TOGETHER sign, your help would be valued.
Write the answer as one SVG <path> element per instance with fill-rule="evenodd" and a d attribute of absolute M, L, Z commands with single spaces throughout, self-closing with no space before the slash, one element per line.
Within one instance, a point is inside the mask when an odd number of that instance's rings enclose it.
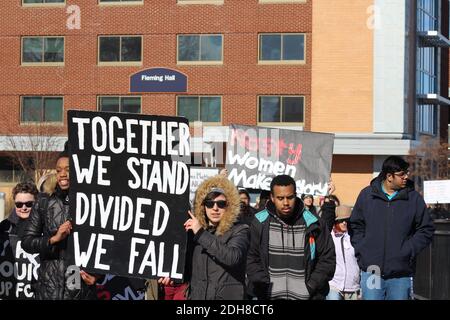
<path fill-rule="evenodd" d="M 144 300 L 145 280 L 107 274 L 97 284 L 97 297 L 99 300 Z"/>

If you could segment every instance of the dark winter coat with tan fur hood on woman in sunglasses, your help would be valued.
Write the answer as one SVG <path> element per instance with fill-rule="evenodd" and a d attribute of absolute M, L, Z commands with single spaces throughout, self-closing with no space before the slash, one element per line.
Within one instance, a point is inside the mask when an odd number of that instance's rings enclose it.
<path fill-rule="evenodd" d="M 211 188 L 225 191 L 228 206 L 217 228 L 209 226 L 203 200 Z M 249 246 L 246 224 L 236 224 L 239 195 L 222 176 L 204 181 L 196 192 L 194 215 L 202 228 L 191 238 L 187 255 L 189 295 L 192 300 L 242 300 L 245 297 L 245 261 Z"/>

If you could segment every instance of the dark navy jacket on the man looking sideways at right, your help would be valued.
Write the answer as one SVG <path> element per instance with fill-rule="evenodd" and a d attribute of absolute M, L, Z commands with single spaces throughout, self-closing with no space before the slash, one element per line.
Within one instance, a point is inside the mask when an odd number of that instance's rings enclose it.
<path fill-rule="evenodd" d="M 425 202 L 408 180 L 389 200 L 377 177 L 356 200 L 350 218 L 350 236 L 363 271 L 380 269 L 387 278 L 411 277 L 415 258 L 432 240 L 434 227 Z"/>

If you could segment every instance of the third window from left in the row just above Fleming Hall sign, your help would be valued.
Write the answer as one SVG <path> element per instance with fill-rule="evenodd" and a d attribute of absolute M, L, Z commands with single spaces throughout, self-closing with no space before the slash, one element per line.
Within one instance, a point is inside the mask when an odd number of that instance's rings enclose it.
<path fill-rule="evenodd" d="M 217 64 L 222 62 L 222 35 L 178 35 L 178 62 Z"/>

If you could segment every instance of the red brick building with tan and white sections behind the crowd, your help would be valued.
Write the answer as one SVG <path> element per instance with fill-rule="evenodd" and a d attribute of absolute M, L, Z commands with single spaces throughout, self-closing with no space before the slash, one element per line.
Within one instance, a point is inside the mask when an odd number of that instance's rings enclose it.
<path fill-rule="evenodd" d="M 193 152 L 217 151 L 233 123 L 335 133 L 348 204 L 386 155 L 448 137 L 447 0 L 11 0 L 0 15 L 7 187 L 6 140 L 38 123 L 62 143 L 69 109 L 203 121 Z M 130 93 L 155 67 L 187 75 L 187 92 Z"/>

